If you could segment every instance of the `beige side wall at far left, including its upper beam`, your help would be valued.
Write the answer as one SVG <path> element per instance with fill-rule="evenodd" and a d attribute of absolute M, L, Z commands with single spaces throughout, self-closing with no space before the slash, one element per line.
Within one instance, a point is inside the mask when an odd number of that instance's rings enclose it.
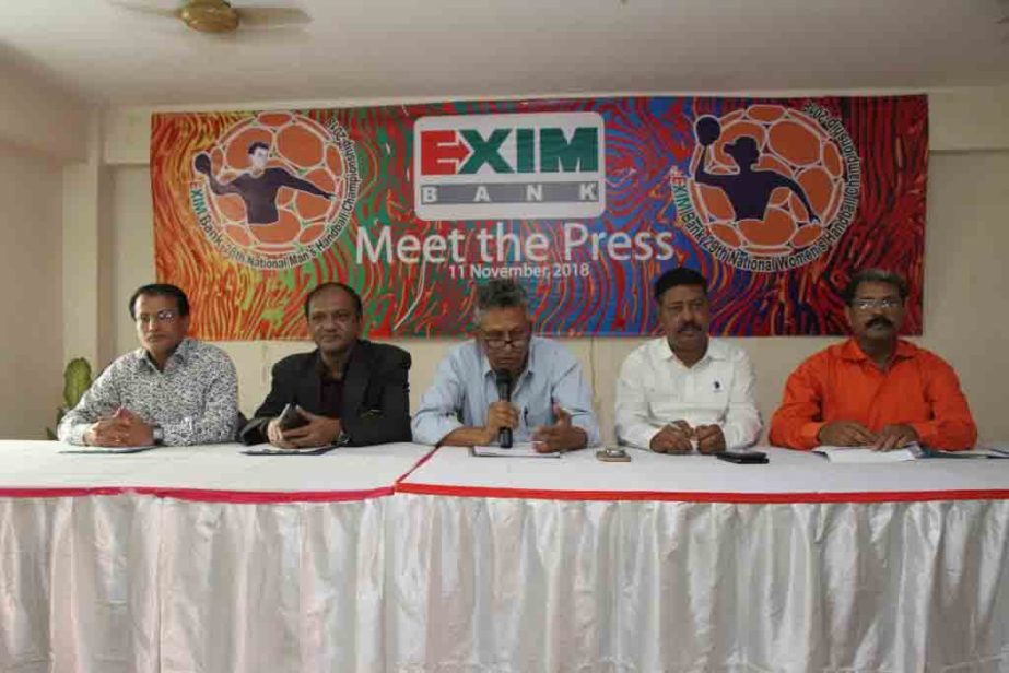
<path fill-rule="evenodd" d="M 0 437 L 43 439 L 62 399 L 63 326 L 77 327 L 63 306 L 63 197 L 68 166 L 86 158 L 90 110 L 7 62 L 0 92 Z"/>

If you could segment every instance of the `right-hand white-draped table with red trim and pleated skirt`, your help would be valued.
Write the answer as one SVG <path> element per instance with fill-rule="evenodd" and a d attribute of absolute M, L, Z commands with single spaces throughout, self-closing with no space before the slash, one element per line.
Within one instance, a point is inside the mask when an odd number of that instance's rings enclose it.
<path fill-rule="evenodd" d="M 390 503 L 400 661 L 1009 671 L 1009 461 L 764 450 L 767 465 L 439 450 Z"/>

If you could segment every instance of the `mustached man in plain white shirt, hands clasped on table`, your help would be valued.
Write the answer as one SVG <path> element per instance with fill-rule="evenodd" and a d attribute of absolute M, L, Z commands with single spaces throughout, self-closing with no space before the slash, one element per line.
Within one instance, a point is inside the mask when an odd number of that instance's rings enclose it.
<path fill-rule="evenodd" d="M 655 282 L 665 336 L 632 352 L 617 381 L 617 439 L 659 453 L 752 445 L 760 435 L 753 367 L 742 349 L 711 339 L 707 282 L 679 268 Z"/>

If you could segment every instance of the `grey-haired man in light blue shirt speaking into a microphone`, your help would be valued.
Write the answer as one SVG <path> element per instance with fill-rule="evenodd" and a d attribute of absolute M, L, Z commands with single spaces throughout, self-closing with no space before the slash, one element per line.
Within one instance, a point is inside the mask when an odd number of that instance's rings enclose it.
<path fill-rule="evenodd" d="M 438 365 L 413 417 L 421 444 L 484 446 L 502 428 L 538 451 L 599 442 L 593 393 L 578 361 L 561 344 L 532 335 L 525 291 L 492 280 L 477 292 L 477 334 Z M 511 381 L 502 399 L 498 379 Z"/>

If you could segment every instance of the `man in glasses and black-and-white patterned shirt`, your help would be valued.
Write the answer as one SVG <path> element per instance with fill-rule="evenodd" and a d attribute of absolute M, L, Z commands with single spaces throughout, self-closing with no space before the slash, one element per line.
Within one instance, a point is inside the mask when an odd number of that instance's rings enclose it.
<path fill-rule="evenodd" d="M 59 424 L 59 438 L 102 447 L 232 441 L 238 379 L 221 349 L 187 339 L 189 300 L 175 285 L 130 297 L 141 349 L 116 358 Z"/>

